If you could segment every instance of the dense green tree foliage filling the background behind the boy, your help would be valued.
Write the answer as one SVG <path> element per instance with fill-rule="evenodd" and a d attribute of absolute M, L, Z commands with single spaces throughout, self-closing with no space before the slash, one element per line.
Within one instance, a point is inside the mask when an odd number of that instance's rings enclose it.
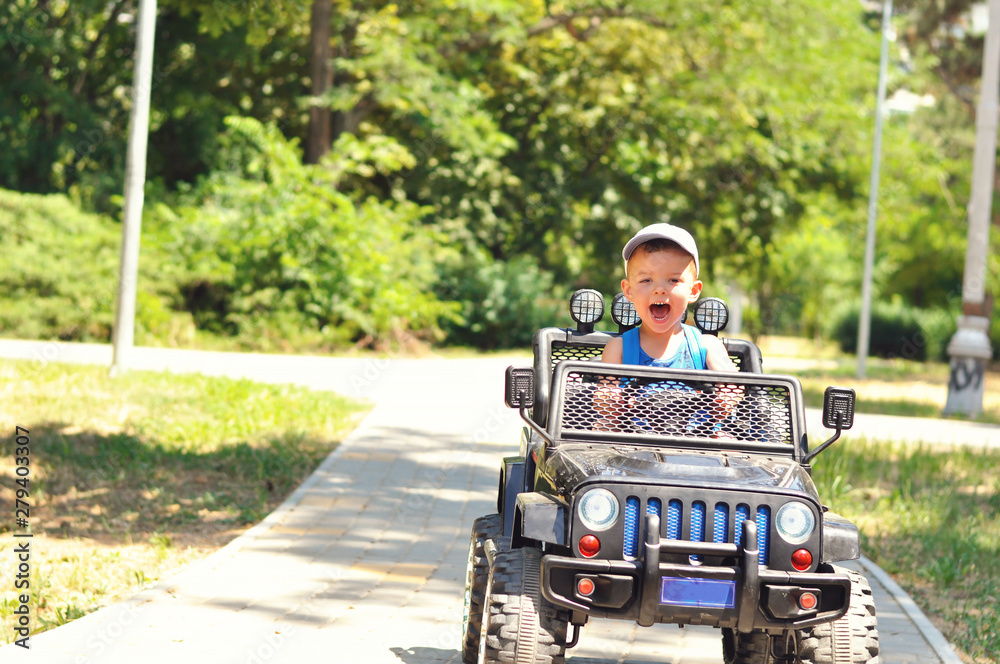
<path fill-rule="evenodd" d="M 760 325 L 818 333 L 825 298 L 858 297 L 879 26 L 857 3 L 324 1 L 329 87 L 310 78 L 310 0 L 159 3 L 150 241 L 185 256 L 174 306 L 198 325 L 521 343 L 499 327 L 575 286 L 615 290 L 619 248 L 662 220 Z M 901 3 L 910 69 L 892 88 L 951 94 L 886 128 L 877 291 L 920 306 L 960 279 L 981 45 L 939 28 L 966 5 Z M 136 8 L 0 10 L 0 187 L 117 211 Z M 314 108 L 329 153 L 303 166 Z"/>

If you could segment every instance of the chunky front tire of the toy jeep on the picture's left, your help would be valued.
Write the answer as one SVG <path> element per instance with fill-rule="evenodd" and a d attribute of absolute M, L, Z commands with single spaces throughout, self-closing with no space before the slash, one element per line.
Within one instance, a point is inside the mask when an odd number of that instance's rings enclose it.
<path fill-rule="evenodd" d="M 498 554 L 484 603 L 482 664 L 564 664 L 569 613 L 541 592 L 535 549 Z"/>

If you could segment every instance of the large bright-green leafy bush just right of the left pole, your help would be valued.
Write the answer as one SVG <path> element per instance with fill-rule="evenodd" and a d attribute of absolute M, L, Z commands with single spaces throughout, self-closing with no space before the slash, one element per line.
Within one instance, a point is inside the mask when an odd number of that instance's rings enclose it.
<path fill-rule="evenodd" d="M 157 222 L 198 326 L 262 350 L 304 333 L 330 347 L 438 338 L 457 305 L 433 292 L 446 250 L 428 210 L 345 194 L 332 164 L 303 165 L 273 126 L 227 124 L 226 169 Z"/>

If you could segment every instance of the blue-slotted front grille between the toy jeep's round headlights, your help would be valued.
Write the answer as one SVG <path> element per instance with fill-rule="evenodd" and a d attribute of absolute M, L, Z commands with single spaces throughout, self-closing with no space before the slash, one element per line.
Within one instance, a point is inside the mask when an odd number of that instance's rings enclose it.
<path fill-rule="evenodd" d="M 639 556 L 640 543 L 645 538 L 644 520 L 640 518 L 643 500 L 637 496 L 625 499 L 625 518 L 622 521 L 622 554 L 626 560 Z M 664 503 L 666 507 L 664 508 Z M 661 511 L 665 514 L 661 514 Z M 688 542 L 735 542 L 742 544 L 742 523 L 753 518 L 757 522 L 757 549 L 760 564 L 766 565 L 770 557 L 771 508 L 768 505 L 751 506 L 739 501 L 735 506 L 729 501 L 710 502 L 694 500 L 685 503 L 680 498 L 649 498 L 645 514 L 660 517 L 660 536 L 665 539 Z M 751 517 L 753 514 L 753 517 Z M 695 556 L 697 558 L 697 556 Z"/>

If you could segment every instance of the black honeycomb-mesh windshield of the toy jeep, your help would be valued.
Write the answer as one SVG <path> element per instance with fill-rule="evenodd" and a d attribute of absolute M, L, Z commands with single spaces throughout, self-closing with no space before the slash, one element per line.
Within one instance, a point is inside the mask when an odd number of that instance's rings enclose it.
<path fill-rule="evenodd" d="M 560 369 L 557 437 L 602 432 L 632 439 L 794 441 L 791 390 L 780 380 L 740 373 L 726 374 L 723 382 L 715 372 L 712 380 L 698 380 L 691 376 L 702 372 L 649 368 L 630 375 L 579 363 Z"/>

